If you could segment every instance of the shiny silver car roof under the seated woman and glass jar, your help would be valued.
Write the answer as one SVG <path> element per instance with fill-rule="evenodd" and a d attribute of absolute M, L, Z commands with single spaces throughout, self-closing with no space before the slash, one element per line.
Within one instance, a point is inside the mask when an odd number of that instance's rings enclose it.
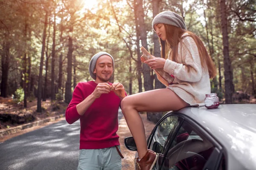
<path fill-rule="evenodd" d="M 179 111 L 204 127 L 227 151 L 228 169 L 256 169 L 256 104 L 188 107 Z"/>

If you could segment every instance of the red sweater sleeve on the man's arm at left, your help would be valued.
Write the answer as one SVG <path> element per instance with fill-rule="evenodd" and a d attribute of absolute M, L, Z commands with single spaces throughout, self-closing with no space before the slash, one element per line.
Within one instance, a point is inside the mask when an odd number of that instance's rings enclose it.
<path fill-rule="evenodd" d="M 77 112 L 76 105 L 78 105 L 83 100 L 84 99 L 82 97 L 82 85 L 79 82 L 73 91 L 73 97 L 65 112 L 66 121 L 69 124 L 73 124 L 78 119 L 80 119 L 81 115 L 79 115 L 79 113 Z"/>

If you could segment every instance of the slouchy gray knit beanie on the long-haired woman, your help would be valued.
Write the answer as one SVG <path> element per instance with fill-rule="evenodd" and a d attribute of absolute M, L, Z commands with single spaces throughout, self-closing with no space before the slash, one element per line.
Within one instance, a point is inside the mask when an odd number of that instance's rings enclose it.
<path fill-rule="evenodd" d="M 154 29 L 154 25 L 159 24 L 159 23 L 168 24 L 168 25 L 186 29 L 186 24 L 183 20 L 183 17 L 181 17 L 180 15 L 178 15 L 172 11 L 163 11 L 163 12 L 157 14 L 154 17 L 153 22 L 152 22 L 153 29 Z M 154 29 L 154 31 L 156 31 L 156 30 Z"/>

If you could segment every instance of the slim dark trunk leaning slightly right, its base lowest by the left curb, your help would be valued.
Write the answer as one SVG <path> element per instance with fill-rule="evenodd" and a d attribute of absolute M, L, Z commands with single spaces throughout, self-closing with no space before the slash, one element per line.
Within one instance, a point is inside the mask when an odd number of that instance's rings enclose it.
<path fill-rule="evenodd" d="M 45 20 L 44 20 L 43 42 L 42 42 L 41 61 L 40 61 L 39 78 L 38 78 L 37 112 L 42 112 L 41 97 L 42 97 L 42 79 L 43 79 L 43 65 L 44 65 L 44 50 L 45 50 L 45 40 L 46 40 L 47 17 L 48 16 L 46 13 Z"/>

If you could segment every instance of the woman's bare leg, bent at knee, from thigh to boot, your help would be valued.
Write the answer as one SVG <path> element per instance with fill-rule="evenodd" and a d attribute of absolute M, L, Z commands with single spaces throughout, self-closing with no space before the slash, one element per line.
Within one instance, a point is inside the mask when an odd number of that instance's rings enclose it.
<path fill-rule="evenodd" d="M 138 112 L 176 111 L 189 104 L 169 88 L 145 91 L 125 97 L 121 102 L 122 113 L 137 146 L 139 159 L 147 152 L 145 128 Z"/>

